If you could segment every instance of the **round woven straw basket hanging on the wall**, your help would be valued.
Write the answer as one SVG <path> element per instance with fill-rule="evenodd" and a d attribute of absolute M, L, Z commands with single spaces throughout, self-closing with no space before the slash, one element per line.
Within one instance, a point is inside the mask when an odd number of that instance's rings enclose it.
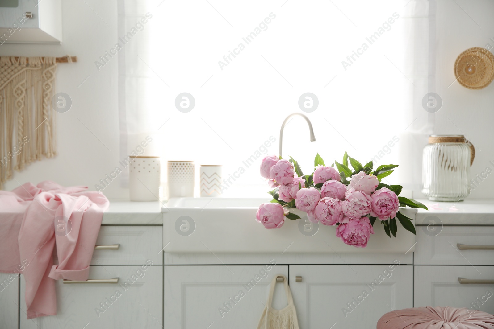
<path fill-rule="evenodd" d="M 494 55 L 481 47 L 467 49 L 456 58 L 454 75 L 463 87 L 485 88 L 494 79 Z"/>

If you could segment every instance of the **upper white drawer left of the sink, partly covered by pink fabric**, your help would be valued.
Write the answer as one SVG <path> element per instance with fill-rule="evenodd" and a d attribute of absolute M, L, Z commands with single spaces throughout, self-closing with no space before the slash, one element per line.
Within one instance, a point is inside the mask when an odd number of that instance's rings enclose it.
<path fill-rule="evenodd" d="M 162 265 L 163 227 L 103 225 L 96 246 L 91 265 Z"/>

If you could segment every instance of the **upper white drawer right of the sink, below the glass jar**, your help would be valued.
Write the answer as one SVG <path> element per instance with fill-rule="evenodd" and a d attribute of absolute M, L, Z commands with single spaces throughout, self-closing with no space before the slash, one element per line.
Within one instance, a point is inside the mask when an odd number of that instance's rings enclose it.
<path fill-rule="evenodd" d="M 436 226 L 430 231 L 427 226 L 417 226 L 416 229 L 417 265 L 494 265 L 493 249 L 460 249 L 494 248 L 494 226 Z"/>

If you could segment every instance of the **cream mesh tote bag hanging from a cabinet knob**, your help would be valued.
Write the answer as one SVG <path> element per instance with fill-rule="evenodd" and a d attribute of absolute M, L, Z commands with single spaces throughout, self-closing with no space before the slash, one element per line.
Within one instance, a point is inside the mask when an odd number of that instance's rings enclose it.
<path fill-rule="evenodd" d="M 275 292 L 276 279 L 283 278 L 283 285 L 285 286 L 285 293 L 287 294 L 288 305 L 281 310 L 277 310 L 271 307 L 273 302 L 273 293 Z M 293 298 L 291 297 L 290 287 L 288 287 L 287 278 L 284 275 L 277 275 L 271 282 L 271 288 L 269 291 L 268 301 L 264 311 L 262 311 L 261 319 L 257 325 L 257 329 L 299 329 L 297 312 L 295 305 L 293 305 Z"/>

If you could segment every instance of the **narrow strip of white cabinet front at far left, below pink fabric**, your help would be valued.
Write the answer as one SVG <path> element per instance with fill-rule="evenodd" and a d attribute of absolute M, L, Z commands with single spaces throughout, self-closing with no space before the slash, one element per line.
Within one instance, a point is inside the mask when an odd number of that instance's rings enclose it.
<path fill-rule="evenodd" d="M 0 328 L 18 328 L 18 274 L 0 273 Z"/>

